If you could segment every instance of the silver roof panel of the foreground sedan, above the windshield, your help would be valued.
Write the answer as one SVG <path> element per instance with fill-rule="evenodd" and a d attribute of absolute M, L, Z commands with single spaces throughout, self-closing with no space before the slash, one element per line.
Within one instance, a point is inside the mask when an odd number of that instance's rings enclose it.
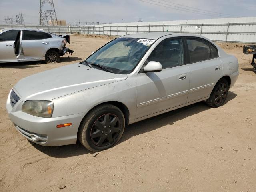
<path fill-rule="evenodd" d="M 200 35 L 194 35 L 194 34 L 185 34 L 185 33 L 175 33 L 175 32 L 148 32 L 148 33 L 138 33 L 138 34 L 129 34 L 129 35 L 124 35 L 124 36 L 120 36 L 119 38 L 142 38 L 142 39 L 153 39 L 153 40 L 157 40 L 163 36 L 190 36 L 190 37 L 200 37 L 200 38 L 204 38 L 206 40 L 208 40 L 207 38 L 200 36 Z"/>

